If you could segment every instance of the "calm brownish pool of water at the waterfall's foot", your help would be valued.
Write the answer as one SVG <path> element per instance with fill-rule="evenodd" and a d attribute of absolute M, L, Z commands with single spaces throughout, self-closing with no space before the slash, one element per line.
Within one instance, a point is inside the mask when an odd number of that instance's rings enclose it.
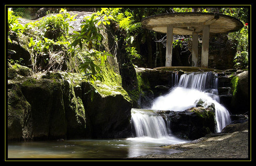
<path fill-rule="evenodd" d="M 147 154 L 172 154 L 182 151 L 160 145 L 186 141 L 153 138 L 83 139 L 34 142 L 9 142 L 8 158 L 130 158 Z"/>

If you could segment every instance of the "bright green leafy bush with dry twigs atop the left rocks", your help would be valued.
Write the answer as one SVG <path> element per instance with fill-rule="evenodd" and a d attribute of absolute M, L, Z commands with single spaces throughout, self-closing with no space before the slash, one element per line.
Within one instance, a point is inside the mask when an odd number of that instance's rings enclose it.
<path fill-rule="evenodd" d="M 40 21 L 25 25 L 24 33 L 30 37 L 28 46 L 33 50 L 31 58 L 34 71 L 62 68 L 68 59 L 68 30 L 73 28 L 69 22 L 75 20 L 75 16 L 70 16 L 66 10 L 61 9 L 58 15 L 46 16 Z"/>

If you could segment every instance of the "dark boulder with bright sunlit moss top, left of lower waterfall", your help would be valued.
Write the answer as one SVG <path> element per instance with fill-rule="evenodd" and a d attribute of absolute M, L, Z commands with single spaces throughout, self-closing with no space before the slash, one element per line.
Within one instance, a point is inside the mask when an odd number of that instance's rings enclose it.
<path fill-rule="evenodd" d="M 125 138 L 131 134 L 131 99 L 121 86 L 95 81 L 93 89 L 83 86 L 89 135 L 92 138 Z M 93 98 L 92 98 L 93 95 Z"/>

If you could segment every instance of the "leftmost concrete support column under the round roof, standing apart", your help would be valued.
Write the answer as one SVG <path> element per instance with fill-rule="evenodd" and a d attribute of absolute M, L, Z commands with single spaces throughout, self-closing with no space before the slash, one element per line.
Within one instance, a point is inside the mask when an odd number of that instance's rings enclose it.
<path fill-rule="evenodd" d="M 172 66 L 172 38 L 173 38 L 173 26 L 167 26 L 167 36 L 166 36 L 166 67 Z"/>

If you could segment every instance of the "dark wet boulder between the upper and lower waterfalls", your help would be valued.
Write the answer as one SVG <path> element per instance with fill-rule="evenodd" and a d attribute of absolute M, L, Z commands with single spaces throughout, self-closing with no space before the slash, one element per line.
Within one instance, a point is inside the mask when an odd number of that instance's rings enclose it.
<path fill-rule="evenodd" d="M 158 111 L 170 121 L 172 133 L 183 139 L 198 139 L 206 134 L 216 132 L 215 107 L 193 107 L 184 111 Z"/>

